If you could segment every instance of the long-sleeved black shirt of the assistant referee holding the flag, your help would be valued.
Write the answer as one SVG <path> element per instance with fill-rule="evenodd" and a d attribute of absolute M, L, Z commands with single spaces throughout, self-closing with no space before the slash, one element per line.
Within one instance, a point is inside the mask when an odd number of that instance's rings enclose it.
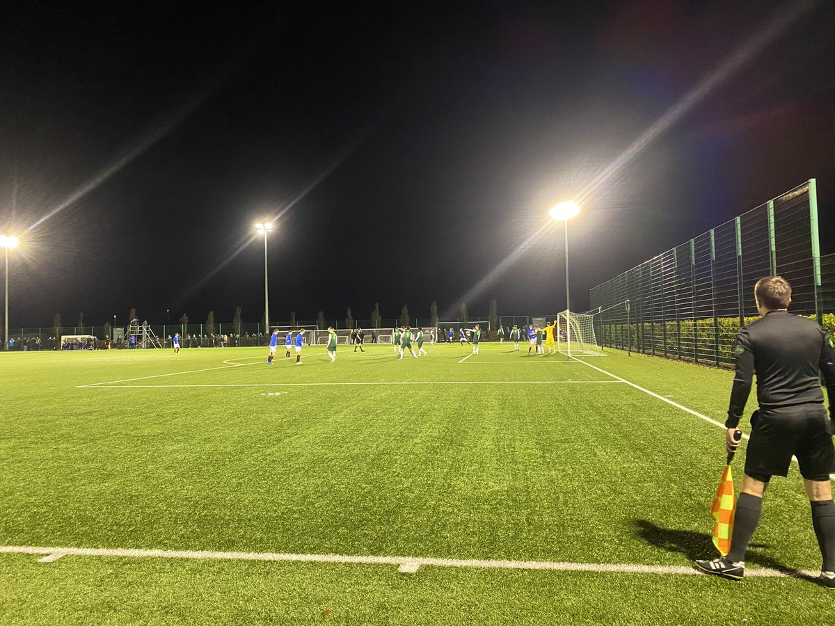
<path fill-rule="evenodd" d="M 727 428 L 736 428 L 757 373 L 757 401 L 763 410 L 823 403 L 821 374 L 835 416 L 835 350 L 815 321 L 772 310 L 736 336 L 736 376 L 731 390 Z"/>

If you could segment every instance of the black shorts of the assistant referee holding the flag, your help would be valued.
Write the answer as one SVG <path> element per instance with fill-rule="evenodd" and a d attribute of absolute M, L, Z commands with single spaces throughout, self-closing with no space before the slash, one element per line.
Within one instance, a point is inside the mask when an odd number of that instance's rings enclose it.
<path fill-rule="evenodd" d="M 751 424 L 751 440 L 745 457 L 745 473 L 768 482 L 772 476 L 786 476 L 797 457 L 802 477 L 828 481 L 835 465 L 832 425 L 822 404 L 760 409 Z"/>

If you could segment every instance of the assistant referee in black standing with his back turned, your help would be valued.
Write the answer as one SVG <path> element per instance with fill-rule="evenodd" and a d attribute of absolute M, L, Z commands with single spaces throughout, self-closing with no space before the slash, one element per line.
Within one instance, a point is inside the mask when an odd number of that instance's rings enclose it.
<path fill-rule="evenodd" d="M 762 495 L 772 476 L 786 476 L 792 456 L 812 506 L 812 527 L 823 559 L 818 581 L 835 589 L 835 504 L 829 473 L 835 462 L 835 430 L 823 406 L 821 374 L 826 381 L 829 412 L 835 419 L 835 350 L 826 331 L 787 308 L 792 286 L 781 276 L 767 276 L 754 286 L 761 319 L 736 337 L 736 376 L 725 422 L 728 452 L 739 445 L 739 425 L 751 376 L 757 374 L 759 410 L 751 416 L 751 440 L 745 479 L 736 502 L 731 551 L 724 558 L 696 561 L 696 568 L 724 578 L 740 579 L 745 553 L 762 516 Z"/>

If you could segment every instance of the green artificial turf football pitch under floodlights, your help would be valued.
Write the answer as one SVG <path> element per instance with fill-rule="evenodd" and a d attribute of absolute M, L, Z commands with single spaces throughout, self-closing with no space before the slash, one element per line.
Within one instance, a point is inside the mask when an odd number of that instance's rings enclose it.
<path fill-rule="evenodd" d="M 624 381 L 722 422 L 731 372 L 426 347 L 0 354 L 0 623 L 832 623 L 796 575 L 820 568 L 796 466 L 747 558 L 795 575 L 686 575 L 716 555 L 724 433 Z M 3 553 L 25 546 L 492 565 Z"/>

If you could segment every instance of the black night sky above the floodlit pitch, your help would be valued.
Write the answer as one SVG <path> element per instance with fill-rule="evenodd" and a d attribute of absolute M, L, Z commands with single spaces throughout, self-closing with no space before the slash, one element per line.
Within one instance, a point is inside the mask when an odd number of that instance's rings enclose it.
<path fill-rule="evenodd" d="M 553 314 L 565 199 L 574 310 L 809 178 L 832 251 L 832 2 L 15 4 L 13 328 L 260 321 L 265 216 L 271 321 Z"/>

